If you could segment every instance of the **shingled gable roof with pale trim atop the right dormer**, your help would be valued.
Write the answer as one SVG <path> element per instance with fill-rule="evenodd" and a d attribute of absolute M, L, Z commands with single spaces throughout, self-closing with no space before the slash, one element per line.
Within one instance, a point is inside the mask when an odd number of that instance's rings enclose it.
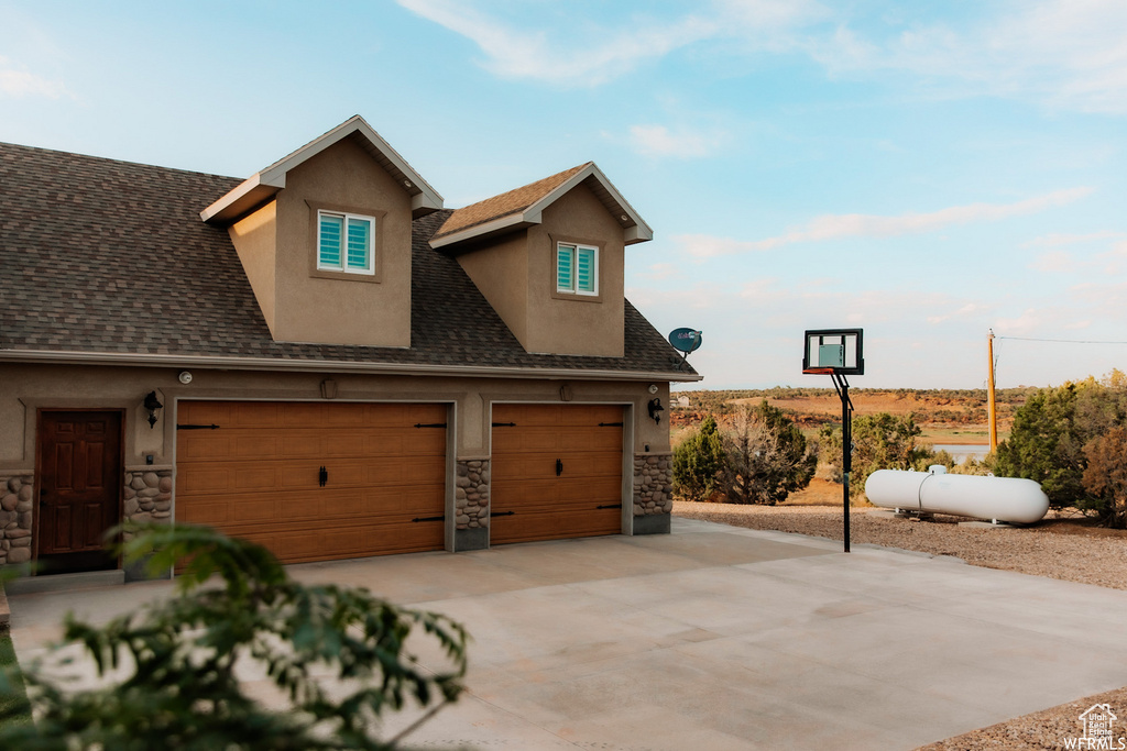
<path fill-rule="evenodd" d="M 654 239 L 654 231 L 633 206 L 595 162 L 587 162 L 456 209 L 435 233 L 431 245 L 453 250 L 461 243 L 540 224 L 544 209 L 578 185 L 589 188 L 606 207 L 622 227 L 625 244 Z"/>

